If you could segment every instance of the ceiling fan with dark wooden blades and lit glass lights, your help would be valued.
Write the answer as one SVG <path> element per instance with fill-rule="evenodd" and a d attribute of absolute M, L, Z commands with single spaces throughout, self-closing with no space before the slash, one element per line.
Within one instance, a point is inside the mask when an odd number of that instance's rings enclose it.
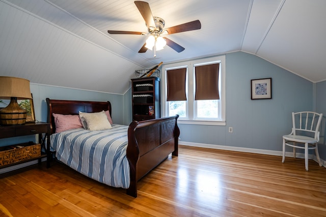
<path fill-rule="evenodd" d="M 165 35 L 171 35 L 175 33 L 187 32 L 201 28 L 199 20 L 183 23 L 173 27 L 165 28 L 165 21 L 160 17 L 153 17 L 149 4 L 143 1 L 135 1 L 134 4 L 142 14 L 148 33 L 144 32 L 132 32 L 132 31 L 117 31 L 107 30 L 109 34 L 129 34 L 129 35 L 149 35 L 145 44 L 138 51 L 139 53 L 145 53 L 147 49 L 154 49 L 154 57 L 156 56 L 156 50 L 163 49 L 165 45 L 168 45 L 177 52 L 182 52 L 184 47 L 175 43 L 174 41 L 164 37 Z M 163 36 L 163 37 L 162 37 Z"/>

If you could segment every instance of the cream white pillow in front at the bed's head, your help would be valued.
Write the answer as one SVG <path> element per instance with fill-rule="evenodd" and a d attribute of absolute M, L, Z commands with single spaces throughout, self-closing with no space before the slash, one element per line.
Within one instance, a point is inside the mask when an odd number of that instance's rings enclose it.
<path fill-rule="evenodd" d="M 111 123 L 108 122 L 107 116 L 104 111 L 95 113 L 85 113 L 79 111 L 80 120 L 86 130 L 108 130 L 111 129 Z"/>

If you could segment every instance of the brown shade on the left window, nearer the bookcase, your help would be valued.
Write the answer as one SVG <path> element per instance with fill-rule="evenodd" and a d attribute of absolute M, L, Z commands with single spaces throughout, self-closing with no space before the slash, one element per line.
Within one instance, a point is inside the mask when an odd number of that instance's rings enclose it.
<path fill-rule="evenodd" d="M 167 70 L 167 101 L 185 101 L 186 68 Z"/>

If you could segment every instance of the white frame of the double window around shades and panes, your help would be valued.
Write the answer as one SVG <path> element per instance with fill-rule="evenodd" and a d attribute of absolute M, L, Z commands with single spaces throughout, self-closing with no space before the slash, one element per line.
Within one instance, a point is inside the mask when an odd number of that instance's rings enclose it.
<path fill-rule="evenodd" d="M 219 108 L 221 108 L 221 118 L 219 119 L 199 119 L 197 116 L 197 102 L 195 99 L 195 66 L 208 65 L 213 63 L 220 64 L 219 74 L 219 91 L 220 91 L 220 102 Z M 162 116 L 167 116 L 169 108 L 169 102 L 167 99 L 167 75 L 166 70 L 187 68 L 187 83 L 186 83 L 186 117 L 178 118 L 178 123 L 194 124 L 194 125 L 216 125 L 226 126 L 226 63 L 225 55 L 206 57 L 195 60 L 181 61 L 178 63 L 171 63 L 162 66 Z M 196 106 L 196 107 L 195 107 Z"/>

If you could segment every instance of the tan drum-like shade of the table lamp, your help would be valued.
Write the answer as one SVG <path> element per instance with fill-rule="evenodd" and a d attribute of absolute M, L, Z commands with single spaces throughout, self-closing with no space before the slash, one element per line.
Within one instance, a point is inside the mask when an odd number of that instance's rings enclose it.
<path fill-rule="evenodd" d="M 23 78 L 0 76 L 0 99 L 32 99 L 30 81 Z"/>

